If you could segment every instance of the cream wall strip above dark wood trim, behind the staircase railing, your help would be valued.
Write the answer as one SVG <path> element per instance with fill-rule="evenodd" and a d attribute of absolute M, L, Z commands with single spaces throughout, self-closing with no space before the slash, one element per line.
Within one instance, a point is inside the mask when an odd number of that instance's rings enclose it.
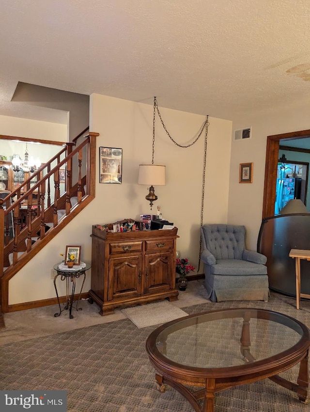
<path fill-rule="evenodd" d="M 19 117 L 0 116 L 0 135 L 66 142 L 67 126 Z"/>

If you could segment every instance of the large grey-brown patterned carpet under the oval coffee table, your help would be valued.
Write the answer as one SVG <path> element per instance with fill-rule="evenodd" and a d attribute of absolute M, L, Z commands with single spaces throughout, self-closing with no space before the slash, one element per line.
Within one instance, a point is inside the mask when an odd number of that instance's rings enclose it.
<path fill-rule="evenodd" d="M 301 310 L 290 298 L 272 295 L 269 302 L 203 303 L 183 308 L 192 314 L 229 307 L 256 307 L 295 317 L 310 327 L 310 302 Z M 62 389 L 67 411 L 190 412 L 174 389 L 156 390 L 155 372 L 145 341 L 156 328 L 129 320 L 90 326 L 0 348 L 0 389 Z M 282 374 L 296 381 L 296 367 Z M 309 412 L 296 394 L 270 380 L 237 386 L 216 395 L 216 412 Z"/>

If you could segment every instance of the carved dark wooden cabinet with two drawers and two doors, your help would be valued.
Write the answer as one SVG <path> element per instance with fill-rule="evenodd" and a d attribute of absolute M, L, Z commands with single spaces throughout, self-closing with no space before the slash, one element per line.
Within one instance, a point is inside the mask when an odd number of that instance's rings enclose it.
<path fill-rule="evenodd" d="M 177 300 L 177 228 L 113 233 L 93 226 L 90 302 L 100 315 L 116 307 L 168 298 Z"/>

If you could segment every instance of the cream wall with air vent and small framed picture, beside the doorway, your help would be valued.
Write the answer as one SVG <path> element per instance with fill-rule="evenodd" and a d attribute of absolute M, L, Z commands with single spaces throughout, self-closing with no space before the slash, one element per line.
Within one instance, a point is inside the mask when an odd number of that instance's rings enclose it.
<path fill-rule="evenodd" d="M 309 100 L 285 102 L 233 121 L 233 131 L 252 127 L 251 139 L 232 142 L 228 203 L 228 222 L 246 226 L 248 249 L 256 250 L 262 223 L 267 136 L 310 129 L 309 109 Z M 248 162 L 254 163 L 253 183 L 239 183 L 239 164 Z"/>

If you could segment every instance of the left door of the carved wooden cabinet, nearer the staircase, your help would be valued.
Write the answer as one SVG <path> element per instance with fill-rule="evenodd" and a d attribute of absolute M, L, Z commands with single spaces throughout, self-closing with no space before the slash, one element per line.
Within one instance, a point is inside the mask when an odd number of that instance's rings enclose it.
<path fill-rule="evenodd" d="M 140 295 L 141 277 L 141 256 L 110 258 L 108 291 L 109 301 Z"/>

